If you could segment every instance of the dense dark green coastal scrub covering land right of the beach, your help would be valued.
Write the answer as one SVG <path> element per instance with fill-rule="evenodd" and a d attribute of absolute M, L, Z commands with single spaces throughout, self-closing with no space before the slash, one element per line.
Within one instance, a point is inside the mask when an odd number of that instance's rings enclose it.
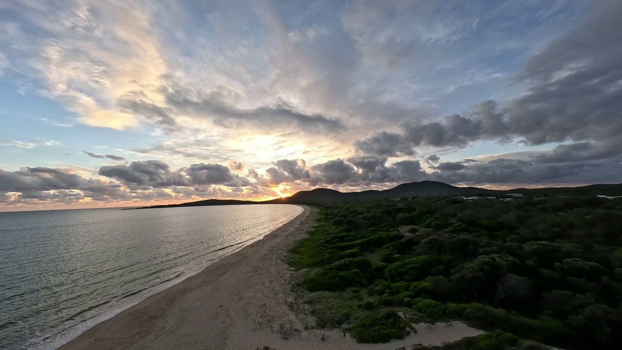
<path fill-rule="evenodd" d="M 362 343 L 411 323 L 494 333 L 448 349 L 622 343 L 622 199 L 426 197 L 317 206 L 293 250 L 319 326 Z M 534 343 L 537 342 L 537 343 Z"/>

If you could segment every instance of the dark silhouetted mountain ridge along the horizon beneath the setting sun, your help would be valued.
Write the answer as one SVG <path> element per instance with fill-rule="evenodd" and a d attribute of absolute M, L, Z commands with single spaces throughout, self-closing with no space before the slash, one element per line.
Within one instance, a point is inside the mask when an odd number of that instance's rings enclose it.
<path fill-rule="evenodd" d="M 497 196 L 507 193 L 521 193 L 526 197 L 541 196 L 622 196 L 622 184 L 595 184 L 581 187 L 547 187 L 541 189 L 493 190 L 480 187 L 458 187 L 439 181 L 418 181 L 399 184 L 391 189 L 368 190 L 361 192 L 340 192 L 334 189 L 316 188 L 296 192 L 290 197 L 271 199 L 270 201 L 241 201 L 238 199 L 205 199 L 202 201 L 151 206 L 144 208 L 197 207 L 197 206 L 232 206 L 236 204 L 322 204 L 335 201 L 397 199 L 402 197 L 434 196 Z M 140 208 L 142 209 L 142 208 Z"/>

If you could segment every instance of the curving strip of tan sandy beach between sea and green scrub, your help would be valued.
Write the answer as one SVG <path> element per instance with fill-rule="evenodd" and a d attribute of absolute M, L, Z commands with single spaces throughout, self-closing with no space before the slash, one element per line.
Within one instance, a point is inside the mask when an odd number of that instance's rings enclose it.
<path fill-rule="evenodd" d="M 62 350 L 250 349 L 391 350 L 439 345 L 481 334 L 462 323 L 417 324 L 417 333 L 388 344 L 357 344 L 315 320 L 290 288 L 289 249 L 313 227 L 317 209 L 304 207 L 253 245 L 152 295 L 61 346 Z"/>

